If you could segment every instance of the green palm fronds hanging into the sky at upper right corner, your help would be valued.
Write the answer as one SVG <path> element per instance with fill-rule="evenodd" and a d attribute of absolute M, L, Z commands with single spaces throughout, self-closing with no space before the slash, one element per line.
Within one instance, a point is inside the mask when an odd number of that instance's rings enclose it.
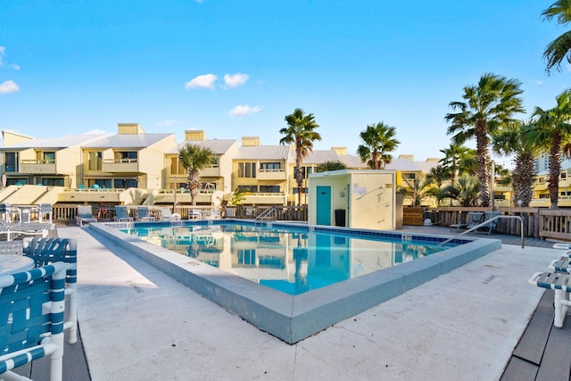
<path fill-rule="evenodd" d="M 571 21 L 571 1 L 556 1 L 542 12 L 542 16 L 543 20 L 551 21 L 555 19 L 558 24 L 567 24 Z M 543 58 L 547 61 L 547 73 L 549 74 L 553 68 L 561 71 L 561 62 L 566 57 L 567 62 L 571 63 L 571 31 L 567 31 L 555 38 L 543 52 Z"/>

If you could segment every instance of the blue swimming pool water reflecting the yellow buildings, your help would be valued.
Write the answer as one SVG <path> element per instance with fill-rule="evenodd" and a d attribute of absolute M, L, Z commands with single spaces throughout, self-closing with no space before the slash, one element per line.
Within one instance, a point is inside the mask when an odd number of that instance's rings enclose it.
<path fill-rule="evenodd" d="M 349 229 L 222 221 L 120 229 L 286 294 L 302 294 L 446 250 L 437 239 Z M 422 240 L 421 240 L 422 239 Z M 441 241 L 442 242 L 442 238 Z"/>

